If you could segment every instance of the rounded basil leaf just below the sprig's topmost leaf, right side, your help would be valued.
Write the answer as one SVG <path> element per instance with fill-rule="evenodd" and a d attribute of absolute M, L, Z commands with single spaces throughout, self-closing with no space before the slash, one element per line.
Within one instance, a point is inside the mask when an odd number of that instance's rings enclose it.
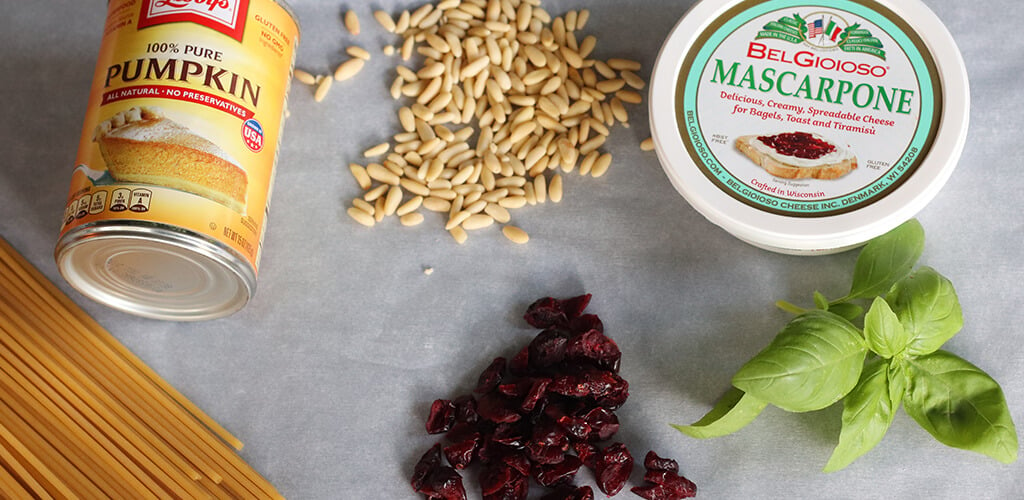
<path fill-rule="evenodd" d="M 931 267 L 897 282 L 886 300 L 909 335 L 911 356 L 936 351 L 964 326 L 964 314 L 952 283 Z"/>

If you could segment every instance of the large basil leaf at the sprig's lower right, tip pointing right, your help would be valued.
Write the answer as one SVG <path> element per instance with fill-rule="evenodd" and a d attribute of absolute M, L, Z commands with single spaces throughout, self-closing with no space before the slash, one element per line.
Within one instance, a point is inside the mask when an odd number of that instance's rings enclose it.
<path fill-rule="evenodd" d="M 940 443 L 1017 460 L 1017 430 L 999 384 L 980 368 L 944 350 L 908 359 L 903 407 Z"/>

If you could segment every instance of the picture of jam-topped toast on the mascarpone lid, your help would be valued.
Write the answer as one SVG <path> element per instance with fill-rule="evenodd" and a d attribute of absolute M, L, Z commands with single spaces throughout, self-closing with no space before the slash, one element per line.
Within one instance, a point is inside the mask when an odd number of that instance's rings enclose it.
<path fill-rule="evenodd" d="M 857 168 L 849 145 L 810 132 L 742 135 L 736 149 L 768 173 L 787 179 L 837 179 Z"/>

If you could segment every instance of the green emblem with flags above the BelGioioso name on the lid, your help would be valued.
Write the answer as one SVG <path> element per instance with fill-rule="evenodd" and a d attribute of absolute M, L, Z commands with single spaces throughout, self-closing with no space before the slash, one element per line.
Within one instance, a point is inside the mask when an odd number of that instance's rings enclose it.
<path fill-rule="evenodd" d="M 805 44 L 821 50 L 842 50 L 851 53 L 874 55 L 885 60 L 882 41 L 859 23 L 849 24 L 837 12 L 814 11 L 801 15 L 795 13 L 769 22 L 758 32 L 756 40 L 782 40 Z"/>

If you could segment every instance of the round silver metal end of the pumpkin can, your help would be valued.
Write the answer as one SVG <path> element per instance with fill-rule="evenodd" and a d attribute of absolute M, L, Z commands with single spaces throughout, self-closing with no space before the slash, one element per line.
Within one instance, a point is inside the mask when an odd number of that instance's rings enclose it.
<path fill-rule="evenodd" d="M 238 311 L 255 289 L 241 259 L 195 236 L 159 227 L 91 227 L 57 246 L 57 267 L 75 289 L 125 312 L 201 321 Z"/>

